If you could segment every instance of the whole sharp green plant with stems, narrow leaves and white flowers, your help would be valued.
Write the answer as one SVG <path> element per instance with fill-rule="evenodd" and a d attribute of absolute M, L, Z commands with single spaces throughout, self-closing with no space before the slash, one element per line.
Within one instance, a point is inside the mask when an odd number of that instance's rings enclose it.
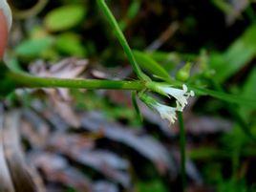
<path fill-rule="evenodd" d="M 187 98 L 193 96 L 194 92 L 197 96 L 214 96 L 224 101 L 236 103 L 240 105 L 256 106 L 255 100 L 247 99 L 242 96 L 232 96 L 225 94 L 221 91 L 207 90 L 202 86 L 196 85 L 193 81 L 189 81 L 189 76 L 186 76 L 185 80 L 188 80 L 187 86 L 184 82 L 170 77 L 168 72 L 159 65 L 154 59 L 149 57 L 146 53 L 133 53 L 129 47 L 123 33 L 118 27 L 117 21 L 112 12 L 108 9 L 104 0 L 97 0 L 99 8 L 104 12 L 107 21 L 112 26 L 112 29 L 116 33 L 124 52 L 134 69 L 135 74 L 138 76 L 134 81 L 115 81 L 115 80 L 96 80 L 96 79 L 60 79 L 53 77 L 38 77 L 29 75 L 26 72 L 21 71 L 18 67 L 8 63 L 7 65 L 1 64 L 3 70 L 1 70 L 1 94 L 7 95 L 16 88 L 75 88 L 75 89 L 116 89 L 116 90 L 130 90 L 135 91 L 135 95 L 145 102 L 149 107 L 157 110 L 160 116 L 167 118 L 171 123 L 176 120 L 176 113 L 179 112 L 180 124 L 181 124 L 181 155 L 182 155 L 182 178 L 183 185 L 185 183 L 185 156 L 184 156 L 184 127 L 181 118 L 181 111 L 187 104 Z M 145 75 L 142 69 L 146 69 L 149 75 Z M 157 69 L 157 70 L 156 70 Z M 157 80 L 152 80 L 154 75 L 157 76 Z M 184 79 L 181 79 L 184 80 Z M 175 88 L 174 88 L 175 87 Z M 182 89 L 179 89 L 182 87 Z M 194 92 L 187 92 L 188 88 Z M 149 93 L 157 93 L 162 96 L 174 97 L 176 101 L 176 107 L 170 107 L 160 104 L 156 98 L 149 96 Z M 136 99 L 134 99 L 136 104 Z M 138 111 L 139 108 L 137 107 Z"/>

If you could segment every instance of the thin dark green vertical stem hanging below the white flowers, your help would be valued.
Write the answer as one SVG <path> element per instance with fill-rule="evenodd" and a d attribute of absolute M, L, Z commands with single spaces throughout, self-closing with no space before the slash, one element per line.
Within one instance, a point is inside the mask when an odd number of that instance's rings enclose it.
<path fill-rule="evenodd" d="M 181 183 L 182 192 L 185 191 L 186 187 L 186 171 L 185 171 L 185 129 L 182 113 L 178 113 L 179 125 L 180 125 L 180 148 L 181 148 Z"/>

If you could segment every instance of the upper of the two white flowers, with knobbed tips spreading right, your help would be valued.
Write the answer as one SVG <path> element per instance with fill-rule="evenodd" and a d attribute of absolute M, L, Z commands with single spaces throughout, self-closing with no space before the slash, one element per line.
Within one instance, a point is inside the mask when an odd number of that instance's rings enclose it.
<path fill-rule="evenodd" d="M 178 102 L 176 103 L 178 111 L 182 111 L 184 109 L 189 96 L 195 96 L 193 91 L 187 92 L 188 90 L 185 84 L 182 85 L 182 89 L 177 89 L 166 85 L 160 85 L 158 89 L 165 96 L 175 97 L 177 99 Z"/>

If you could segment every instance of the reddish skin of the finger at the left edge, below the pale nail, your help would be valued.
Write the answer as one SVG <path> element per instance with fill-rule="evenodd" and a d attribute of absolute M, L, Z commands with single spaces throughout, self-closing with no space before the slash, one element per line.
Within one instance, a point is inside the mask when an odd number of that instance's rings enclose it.
<path fill-rule="evenodd" d="M 3 11 L 0 10 L 0 58 L 3 57 L 5 49 L 7 46 L 8 39 L 8 27 L 5 15 Z"/>

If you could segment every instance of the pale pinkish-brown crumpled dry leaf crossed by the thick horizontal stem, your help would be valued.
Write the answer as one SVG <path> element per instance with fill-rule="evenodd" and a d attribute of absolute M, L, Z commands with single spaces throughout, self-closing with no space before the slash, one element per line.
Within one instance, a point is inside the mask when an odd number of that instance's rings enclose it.
<path fill-rule="evenodd" d="M 49 68 L 42 61 L 33 63 L 30 72 L 33 75 L 57 78 L 77 78 L 87 67 L 87 59 L 67 58 L 59 63 L 53 64 Z M 42 89 L 50 96 L 53 110 L 65 119 L 71 126 L 77 128 L 80 126 L 80 120 L 75 116 L 71 107 L 71 96 L 68 89 Z M 69 101 L 69 102 L 68 102 Z"/>

